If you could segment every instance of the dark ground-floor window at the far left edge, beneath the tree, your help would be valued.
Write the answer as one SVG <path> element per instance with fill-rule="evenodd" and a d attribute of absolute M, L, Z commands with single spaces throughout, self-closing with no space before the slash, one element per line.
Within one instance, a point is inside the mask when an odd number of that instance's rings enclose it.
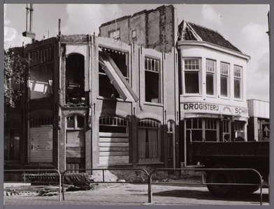
<path fill-rule="evenodd" d="M 20 160 L 20 123 L 7 120 L 4 125 L 4 160 Z"/>

